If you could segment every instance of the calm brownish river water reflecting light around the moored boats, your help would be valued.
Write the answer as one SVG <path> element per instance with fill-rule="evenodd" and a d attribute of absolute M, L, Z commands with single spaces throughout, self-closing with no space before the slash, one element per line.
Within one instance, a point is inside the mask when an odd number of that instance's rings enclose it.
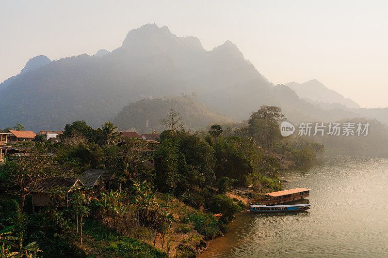
<path fill-rule="evenodd" d="M 237 216 L 200 257 L 388 257 L 388 159 L 324 157 L 281 173 L 311 189 L 297 213 Z"/>

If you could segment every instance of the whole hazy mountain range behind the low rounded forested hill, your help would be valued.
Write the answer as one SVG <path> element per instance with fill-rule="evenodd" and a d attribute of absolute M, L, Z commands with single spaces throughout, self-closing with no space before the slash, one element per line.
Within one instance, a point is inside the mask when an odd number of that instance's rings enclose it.
<path fill-rule="evenodd" d="M 274 86 L 230 41 L 208 51 L 199 39 L 156 24 L 130 30 L 112 52 L 36 62 L 27 70 L 0 84 L 0 128 L 18 122 L 29 130 L 58 130 L 76 120 L 97 127 L 131 102 L 193 92 L 211 114 L 236 121 L 261 105 L 282 107 L 295 123 L 374 117 L 316 80 Z M 338 105 L 325 106 L 330 103 Z M 388 117 L 382 110 L 379 116 Z"/>

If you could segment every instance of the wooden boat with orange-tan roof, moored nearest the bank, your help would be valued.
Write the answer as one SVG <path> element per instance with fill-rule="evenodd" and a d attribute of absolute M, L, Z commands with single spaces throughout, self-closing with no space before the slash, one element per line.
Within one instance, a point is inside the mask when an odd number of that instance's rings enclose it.
<path fill-rule="evenodd" d="M 294 188 L 290 190 L 278 191 L 263 194 L 262 198 L 252 199 L 252 204 L 273 205 L 278 203 L 300 200 L 310 195 L 310 189 Z"/>

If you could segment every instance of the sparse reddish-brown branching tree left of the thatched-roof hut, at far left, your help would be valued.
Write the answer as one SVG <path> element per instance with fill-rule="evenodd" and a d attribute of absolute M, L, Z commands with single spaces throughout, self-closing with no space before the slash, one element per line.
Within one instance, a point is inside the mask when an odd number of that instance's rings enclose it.
<path fill-rule="evenodd" d="M 26 145 L 25 152 L 2 165 L 9 178 L 9 183 L 20 199 L 20 209 L 23 212 L 24 200 L 36 187 L 37 183 L 48 177 L 65 172 L 60 159 L 51 153 L 49 147 L 42 144 Z"/>

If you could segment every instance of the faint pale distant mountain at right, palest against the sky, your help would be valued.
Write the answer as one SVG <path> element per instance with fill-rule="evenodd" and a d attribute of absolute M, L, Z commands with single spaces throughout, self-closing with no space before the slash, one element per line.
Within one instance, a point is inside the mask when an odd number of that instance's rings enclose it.
<path fill-rule="evenodd" d="M 353 100 L 345 98 L 337 91 L 330 90 L 318 80 L 309 80 L 304 83 L 289 82 L 286 83 L 288 87 L 298 94 L 299 97 L 306 99 L 308 102 L 318 104 L 325 108 L 325 104 L 340 104 L 349 108 L 360 108 L 360 106 Z M 342 107 L 342 106 L 338 107 Z"/>

